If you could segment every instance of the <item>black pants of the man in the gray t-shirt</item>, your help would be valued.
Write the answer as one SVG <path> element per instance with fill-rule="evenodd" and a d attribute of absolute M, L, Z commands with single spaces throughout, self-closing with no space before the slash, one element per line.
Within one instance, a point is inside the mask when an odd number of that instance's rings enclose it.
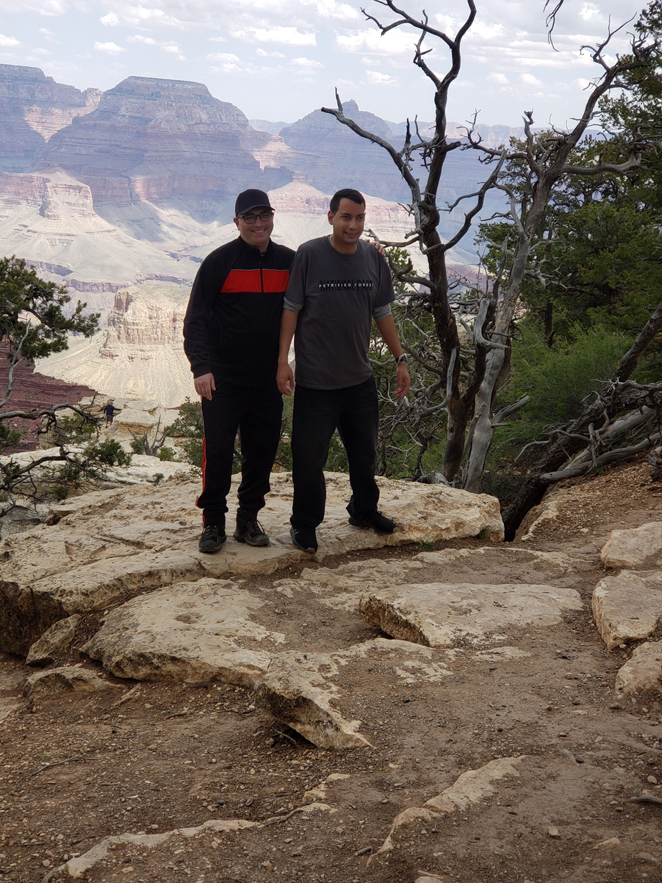
<path fill-rule="evenodd" d="M 361 517 L 376 511 L 380 499 L 374 479 L 379 424 L 377 388 L 372 377 L 343 389 L 310 389 L 297 384 L 292 418 L 291 525 L 317 527 L 324 520 L 324 466 L 336 427 L 350 463 L 350 512 Z"/>

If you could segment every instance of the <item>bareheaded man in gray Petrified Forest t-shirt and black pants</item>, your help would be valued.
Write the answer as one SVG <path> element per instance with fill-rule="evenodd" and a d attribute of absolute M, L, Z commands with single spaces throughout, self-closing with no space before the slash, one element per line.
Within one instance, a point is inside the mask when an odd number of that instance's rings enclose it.
<path fill-rule="evenodd" d="M 331 200 L 331 236 L 301 245 L 285 292 L 278 358 L 278 388 L 291 396 L 288 357 L 294 336 L 297 395 L 292 423 L 294 500 L 290 534 L 295 546 L 317 551 L 315 529 L 324 518 L 324 466 L 337 427 L 347 450 L 352 496 L 350 525 L 391 533 L 395 523 L 377 510 L 374 479 L 379 409 L 367 357 L 372 320 L 397 364 L 395 396 L 410 389 L 407 357 L 391 315 L 393 284 L 386 261 L 361 241 L 365 200 L 340 190 Z M 296 331 L 296 335 L 295 335 Z"/>

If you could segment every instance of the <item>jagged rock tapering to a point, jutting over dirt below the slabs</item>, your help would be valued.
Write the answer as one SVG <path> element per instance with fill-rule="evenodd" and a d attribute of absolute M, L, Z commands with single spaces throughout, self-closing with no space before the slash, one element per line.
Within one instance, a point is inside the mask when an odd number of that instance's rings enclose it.
<path fill-rule="evenodd" d="M 335 669 L 330 655 L 282 653 L 258 687 L 255 705 L 318 748 L 371 748 L 357 733 L 361 721 L 347 721 L 331 706 L 337 694 L 320 668 Z"/>

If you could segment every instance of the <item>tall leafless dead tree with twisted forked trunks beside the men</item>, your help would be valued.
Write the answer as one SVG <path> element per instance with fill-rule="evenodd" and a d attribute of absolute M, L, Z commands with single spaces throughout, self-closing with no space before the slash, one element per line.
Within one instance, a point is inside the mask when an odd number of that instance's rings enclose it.
<path fill-rule="evenodd" d="M 468 454 L 462 476 L 463 487 L 478 492 L 481 489 L 485 457 L 492 444 L 495 427 L 526 404 L 526 399 L 523 398 L 520 402 L 510 405 L 506 411 L 493 412 L 496 393 L 508 375 L 509 336 L 524 275 L 529 268 L 532 244 L 539 233 L 553 188 L 570 174 L 591 176 L 601 175 L 607 171 L 625 173 L 641 162 L 640 146 L 636 140 L 621 146 L 622 162 L 598 162 L 591 167 L 578 168 L 569 163 L 569 158 L 593 120 L 600 98 L 614 88 L 626 87 L 624 76 L 647 64 L 654 41 L 651 41 L 649 34 L 639 34 L 632 39 L 631 54 L 628 57 L 617 57 L 613 64 L 606 59 L 606 47 L 613 35 L 621 28 L 610 30 L 606 40 L 598 46 L 584 47 L 591 51 L 592 60 L 598 65 L 600 72 L 591 85 L 582 115 L 570 132 L 553 132 L 550 137 L 540 140 L 533 131 L 533 114 L 528 112 L 524 117 L 525 140 L 521 150 L 511 150 L 506 147 L 488 149 L 474 133 L 474 125 L 470 125 L 467 131 L 470 147 L 482 151 L 485 159 L 493 162 L 493 170 L 478 192 L 461 198 L 462 200 L 473 198 L 473 205 L 465 213 L 464 221 L 455 236 L 448 242 L 442 243 L 437 230 L 440 217 L 437 192 L 448 153 L 463 146 L 460 141 L 448 141 L 446 138 L 448 89 L 460 71 L 461 45 L 464 35 L 476 17 L 476 6 L 473 0 L 467 0 L 469 7 L 467 19 L 455 37 L 451 37 L 431 26 L 425 11 L 421 19 L 416 19 L 397 6 L 395 0 L 374 0 L 374 2 L 386 7 L 397 16 L 390 23 L 382 23 L 363 10 L 365 18 L 378 26 L 382 35 L 401 26 L 413 27 L 419 33 L 413 63 L 425 73 L 435 87 L 433 135 L 430 139 L 424 139 L 418 131 L 418 125 L 415 125 L 415 136 L 412 135 L 408 121 L 404 145 L 400 150 L 396 150 L 387 140 L 367 132 L 345 116 L 337 90 L 337 107 L 322 108 L 322 110 L 335 116 L 342 125 L 348 126 L 360 137 L 371 140 L 385 149 L 410 187 L 410 211 L 414 230 L 404 243 L 387 245 L 418 244 L 427 259 L 428 274 L 425 277 L 413 273 L 411 267 L 409 272 L 401 272 L 397 275 L 402 281 L 418 285 L 425 291 L 426 306 L 434 318 L 440 345 L 438 369 L 441 382 L 443 383 L 445 379 L 446 396 L 443 399 L 443 406 L 448 411 L 448 442 L 443 472 L 447 479 L 455 479 L 461 472 L 463 458 Z M 559 8 L 557 5 L 554 14 Z M 438 76 L 428 64 L 427 57 L 431 49 L 424 49 L 425 38 L 437 40 L 450 53 L 448 71 L 443 76 Z M 523 185 L 527 189 L 527 198 L 523 202 L 523 207 L 522 204 L 517 204 L 512 188 L 502 180 L 505 163 L 515 160 L 521 160 L 526 170 Z M 417 163 L 420 163 L 425 170 L 423 185 L 417 177 Z M 484 297 L 479 298 L 478 302 L 475 301 L 472 305 L 475 309 L 474 321 L 471 324 L 462 323 L 472 349 L 472 358 L 469 360 L 460 347 L 457 322 L 462 321 L 461 316 L 457 309 L 453 308 L 457 305 L 451 305 L 448 298 L 445 257 L 448 250 L 457 245 L 470 230 L 472 220 L 484 205 L 485 193 L 495 186 L 505 192 L 510 201 L 510 217 L 515 226 L 515 243 L 511 251 L 504 252 L 500 275 L 495 280 L 492 291 L 486 292 Z M 448 208 L 455 208 L 459 201 Z M 421 354 L 415 348 L 408 346 L 407 341 L 403 345 L 418 361 L 421 361 Z M 461 387 L 461 373 L 463 387 Z"/>

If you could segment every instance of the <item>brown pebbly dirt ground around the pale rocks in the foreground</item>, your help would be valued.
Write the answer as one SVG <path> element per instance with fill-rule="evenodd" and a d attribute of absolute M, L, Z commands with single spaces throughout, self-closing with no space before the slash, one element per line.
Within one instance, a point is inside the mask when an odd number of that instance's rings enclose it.
<path fill-rule="evenodd" d="M 32 669 L 0 654 L 0 880 L 59 883 L 70 878 L 56 867 L 104 838 L 210 819 L 263 824 L 175 834 L 152 847 L 117 842 L 80 879 L 414 883 L 426 871 L 443 883 L 662 880 L 662 799 L 631 802 L 643 793 L 662 798 L 662 699 L 617 701 L 614 676 L 631 651 L 606 653 L 591 619 L 591 592 L 604 576 L 600 548 L 615 528 L 662 520 L 662 488 L 651 485 L 642 460 L 557 488 L 554 498 L 559 517 L 512 546 L 577 559 L 572 585 L 583 610 L 557 626 L 509 632 L 502 643 L 526 657 L 462 646 L 430 651 L 439 676 L 428 679 L 398 674 L 393 653 L 344 666 L 342 713 L 362 721 L 372 748 L 321 751 L 257 712 L 251 691 L 224 683 L 110 678 L 114 689 L 31 705 L 23 686 Z M 533 558 L 525 563 L 514 578 L 540 581 Z M 482 567 L 504 569 L 498 547 Z M 260 577 L 254 587 L 264 597 L 298 572 Z M 439 578 L 430 564 L 417 582 Z M 559 572 L 558 585 L 564 581 L 570 585 Z M 380 636 L 358 615 L 315 611 L 312 622 L 312 607 L 298 595 L 274 597 L 274 621 L 302 653 Z M 84 620 L 74 649 L 58 661 L 101 670 L 76 649 L 95 625 Z M 419 826 L 387 862 L 367 864 L 399 812 L 468 769 L 519 755 L 526 755 L 521 774 L 495 796 Z M 305 792 L 322 782 L 316 799 L 327 808 L 305 811 L 312 799 Z"/>

